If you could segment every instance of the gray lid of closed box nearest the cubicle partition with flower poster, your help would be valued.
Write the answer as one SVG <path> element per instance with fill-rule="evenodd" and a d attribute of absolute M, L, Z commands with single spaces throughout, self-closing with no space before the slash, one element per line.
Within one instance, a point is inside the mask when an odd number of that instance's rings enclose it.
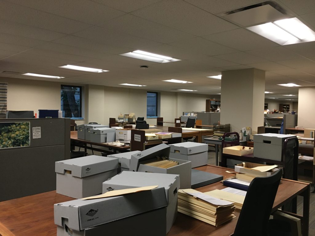
<path fill-rule="evenodd" d="M 55 162 L 55 172 L 64 174 L 71 171 L 72 176 L 86 177 L 118 168 L 118 159 L 105 156 L 84 156 Z"/>

